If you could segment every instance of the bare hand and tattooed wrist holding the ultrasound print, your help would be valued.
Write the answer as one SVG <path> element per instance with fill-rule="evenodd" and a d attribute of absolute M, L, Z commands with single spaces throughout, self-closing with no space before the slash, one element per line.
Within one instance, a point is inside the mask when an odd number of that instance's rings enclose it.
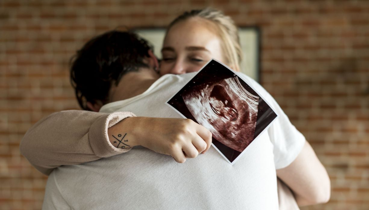
<path fill-rule="evenodd" d="M 141 145 L 168 154 L 178 163 L 195 158 L 211 146 L 211 132 L 182 118 L 129 117 L 108 129 L 112 145 L 129 148 Z"/>

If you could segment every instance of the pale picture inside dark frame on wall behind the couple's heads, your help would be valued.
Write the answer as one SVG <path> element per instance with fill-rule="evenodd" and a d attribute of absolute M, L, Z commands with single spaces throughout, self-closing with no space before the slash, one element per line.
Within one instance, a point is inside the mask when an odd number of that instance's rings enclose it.
<path fill-rule="evenodd" d="M 161 58 L 166 28 L 137 28 L 134 31 L 154 46 L 154 54 Z M 260 82 L 261 32 L 257 26 L 239 27 L 239 39 L 243 52 L 241 72 Z"/>

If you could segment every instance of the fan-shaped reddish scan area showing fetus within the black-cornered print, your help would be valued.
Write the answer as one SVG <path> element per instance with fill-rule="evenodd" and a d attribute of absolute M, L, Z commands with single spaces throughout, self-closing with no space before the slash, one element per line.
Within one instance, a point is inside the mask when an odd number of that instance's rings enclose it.
<path fill-rule="evenodd" d="M 242 152 L 254 140 L 259 97 L 237 76 L 194 86 L 182 98 L 196 121 L 223 145 Z"/>

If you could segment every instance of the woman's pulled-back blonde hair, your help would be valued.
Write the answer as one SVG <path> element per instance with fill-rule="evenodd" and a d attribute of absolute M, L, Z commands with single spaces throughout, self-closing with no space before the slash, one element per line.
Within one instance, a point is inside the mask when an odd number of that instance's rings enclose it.
<path fill-rule="evenodd" d="M 169 24 L 167 33 L 176 23 L 193 17 L 204 18 L 217 26 L 218 36 L 222 41 L 221 45 L 225 63 L 239 71 L 239 64 L 242 60 L 242 50 L 239 43 L 238 29 L 232 18 L 224 15 L 222 11 L 213 8 L 204 8 L 202 10 L 184 12 Z"/>

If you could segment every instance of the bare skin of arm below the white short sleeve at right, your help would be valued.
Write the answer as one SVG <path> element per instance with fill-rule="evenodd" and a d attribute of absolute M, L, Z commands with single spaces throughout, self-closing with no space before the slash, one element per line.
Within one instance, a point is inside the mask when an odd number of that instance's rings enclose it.
<path fill-rule="evenodd" d="M 299 206 L 327 203 L 330 199 L 327 171 L 308 142 L 290 165 L 277 170 L 277 176 L 293 191 Z"/>

